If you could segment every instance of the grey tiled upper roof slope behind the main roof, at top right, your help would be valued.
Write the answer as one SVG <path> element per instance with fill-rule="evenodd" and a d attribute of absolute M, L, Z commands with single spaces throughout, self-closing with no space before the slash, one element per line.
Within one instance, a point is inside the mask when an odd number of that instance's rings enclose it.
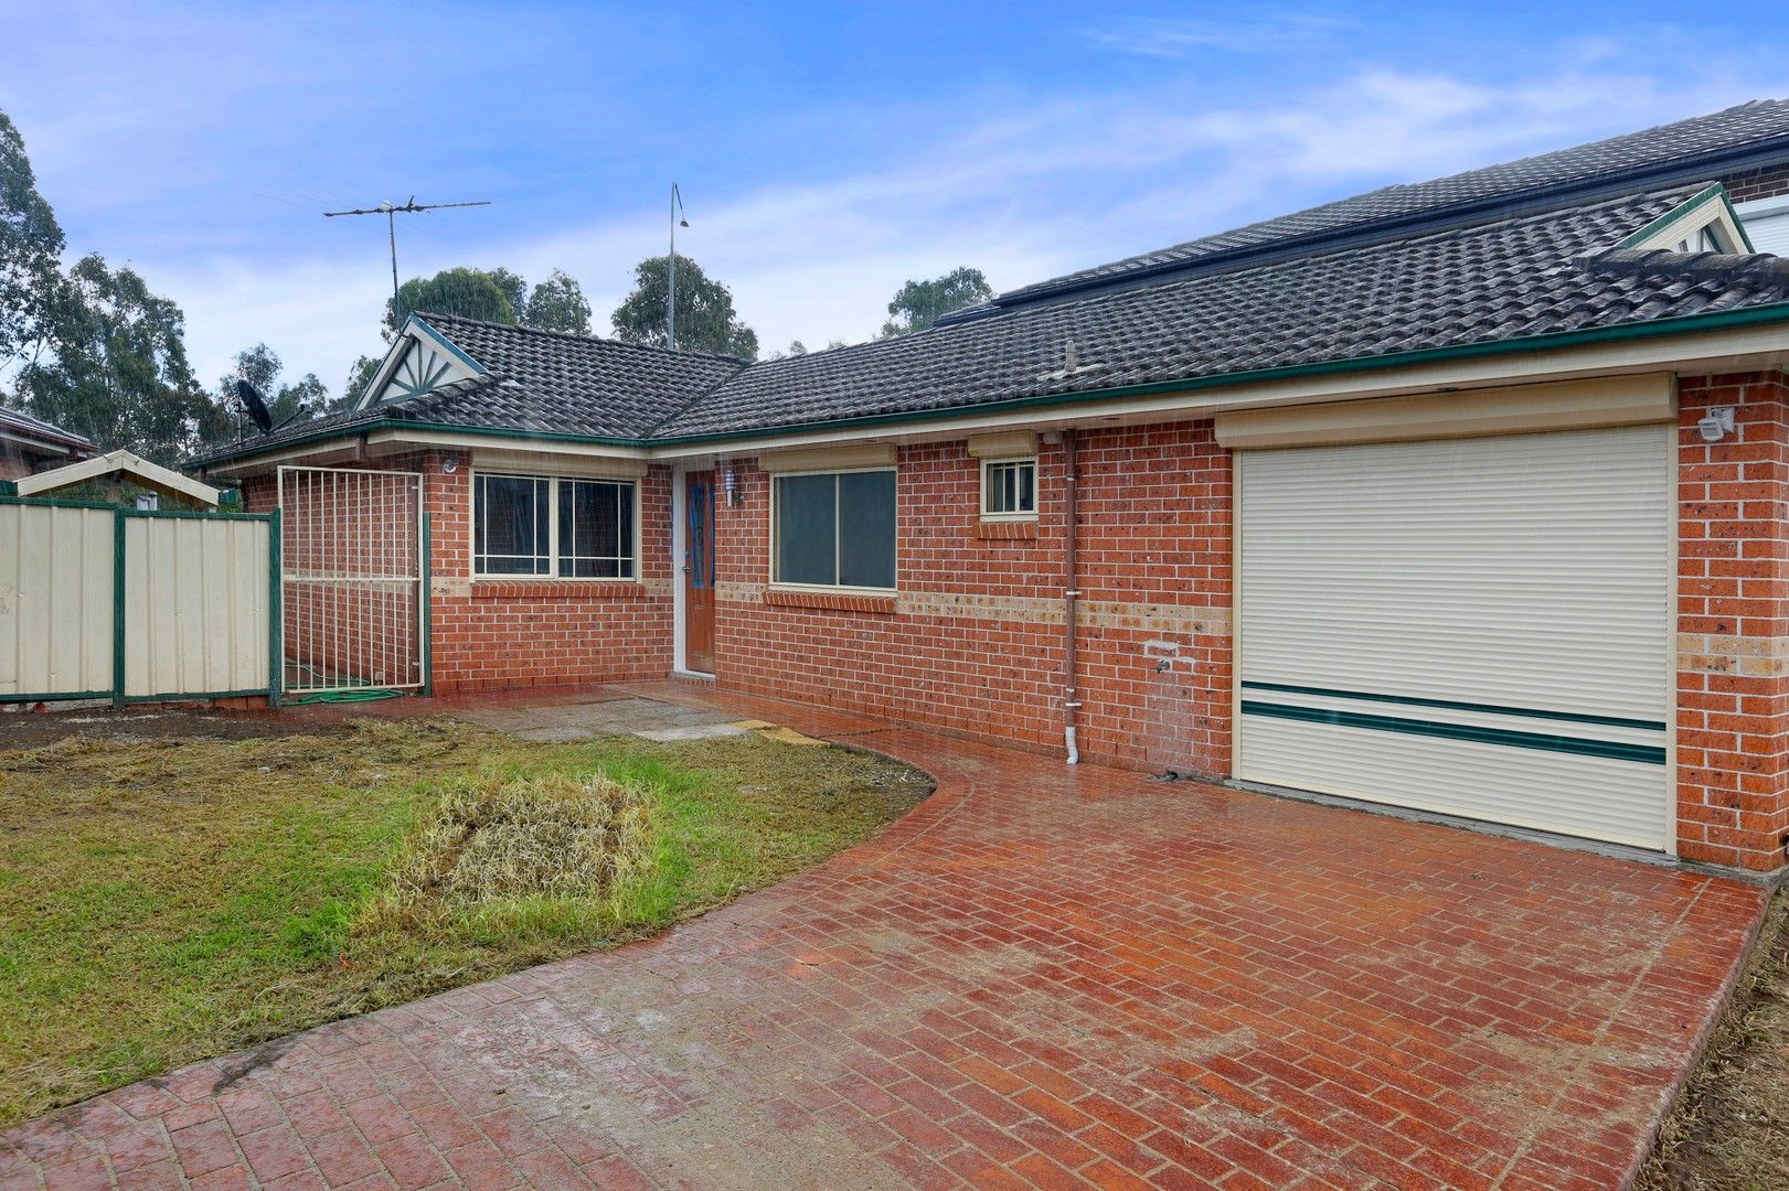
<path fill-rule="evenodd" d="M 1381 222 L 1415 216 L 1435 218 L 1449 213 L 1471 218 L 1474 209 L 1488 202 L 1508 204 L 1524 197 L 1539 200 L 1562 188 L 1626 181 L 1642 172 L 1671 170 L 1678 173 L 1673 181 L 1682 181 L 1687 175 L 1717 177 L 1723 170 L 1710 168 L 1707 163 L 1719 159 L 1728 150 L 1755 152 L 1760 143 L 1778 139 L 1785 141 L 1785 148 L 1789 148 L 1789 100 L 1753 100 L 1707 116 L 1481 170 L 1467 170 L 1451 177 L 1385 186 L 1365 195 L 1020 286 L 998 295 L 989 306 L 1014 306 L 1082 290 L 1088 284 L 1116 284 L 1161 275 L 1200 263 L 1215 263 L 1218 258 L 1258 254 L 1311 238 L 1363 231 Z M 1642 186 L 1646 182 L 1635 182 L 1630 190 Z M 986 309 L 979 308 L 975 313 Z"/>

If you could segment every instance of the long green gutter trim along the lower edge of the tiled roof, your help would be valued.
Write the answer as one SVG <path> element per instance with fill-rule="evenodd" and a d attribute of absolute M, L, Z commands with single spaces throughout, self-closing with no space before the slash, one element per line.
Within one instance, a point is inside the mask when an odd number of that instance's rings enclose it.
<path fill-rule="evenodd" d="M 1249 372 L 1225 372 L 1218 376 L 1200 376 L 1181 381 L 1150 381 L 1147 384 L 1123 384 L 1116 388 L 1093 388 L 1072 393 L 1043 393 L 1038 397 L 1013 397 L 1009 401 L 988 401 L 973 406 L 941 406 L 936 410 L 907 410 L 902 413 L 871 413 L 855 418 L 830 418 L 821 422 L 787 422 L 782 426 L 762 426 L 744 431 L 717 431 L 712 435 L 680 435 L 667 438 L 621 438 L 614 435 L 569 435 L 562 431 L 524 431 L 492 426 L 458 426 L 453 422 L 419 422 L 410 418 L 377 418 L 354 426 L 335 427 L 317 435 L 288 438 L 274 449 L 286 451 L 309 442 L 327 438 L 354 438 L 374 429 L 419 429 L 453 435 L 476 435 L 487 438 L 512 438 L 524 442 L 576 442 L 592 447 L 682 447 L 719 442 L 741 442 L 748 438 L 771 438 L 776 435 L 794 435 L 827 429 L 862 429 L 871 426 L 900 426 L 905 422 L 936 422 L 954 417 L 973 417 L 982 413 L 1002 413 L 1011 410 L 1043 410 L 1066 404 L 1086 404 L 1098 401 L 1116 401 L 1122 397 L 1152 397 L 1159 393 L 1191 393 L 1209 388 L 1231 388 L 1236 384 L 1258 384 L 1267 381 L 1295 381 L 1320 376 L 1349 376 L 1356 372 L 1385 372 L 1424 363 L 1446 363 L 1451 359 L 1480 359 L 1488 356 L 1513 356 L 1567 347 L 1585 347 L 1599 343 L 1623 343 L 1628 340 L 1649 340 L 1669 334 L 1696 334 L 1700 331 L 1732 331 L 1742 327 L 1771 325 L 1789 322 L 1789 302 L 1771 302 L 1769 306 L 1751 306 L 1746 309 L 1723 309 L 1700 315 L 1678 315 L 1675 318 L 1653 318 L 1648 322 L 1624 322 L 1614 327 L 1587 327 L 1583 331 L 1555 331 L 1551 334 L 1533 334 L 1519 340 L 1494 340 L 1483 343 L 1460 343 L 1456 347 L 1424 347 L 1410 352 L 1388 352 L 1385 356 L 1367 356 L 1361 359 L 1329 359 L 1306 365 L 1286 365 L 1281 368 L 1256 368 Z M 213 467 L 231 458 L 254 458 L 252 452 L 225 456 Z"/>

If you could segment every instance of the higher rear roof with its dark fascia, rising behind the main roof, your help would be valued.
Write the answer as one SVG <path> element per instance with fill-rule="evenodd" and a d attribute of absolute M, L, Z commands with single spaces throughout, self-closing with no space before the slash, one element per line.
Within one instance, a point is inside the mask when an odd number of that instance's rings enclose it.
<path fill-rule="evenodd" d="M 1760 116 L 1766 116 L 1760 120 Z M 1737 125 L 1737 127 L 1728 127 Z M 1700 134 L 1700 136 L 1698 136 Z M 1671 141 L 1651 145 L 1655 141 Z M 1691 139 L 1687 147 L 1675 141 Z M 1698 143 L 1700 141 L 1700 143 Z M 1578 161 L 1583 159 L 1583 161 Z M 1732 161 L 1730 161 L 1732 159 Z M 1392 238 L 1406 231 L 1460 225 L 1483 215 L 1517 213 L 1549 198 L 1576 200 L 1619 193 L 1617 184 L 1664 186 L 1671 181 L 1710 177 L 1712 163 L 1723 170 L 1757 165 L 1759 159 L 1789 161 L 1789 100 L 1755 98 L 1701 116 L 1658 123 L 1635 132 L 1621 132 L 1583 145 L 1569 145 L 1513 161 L 1462 170 L 1438 179 L 1394 182 L 1333 202 L 1290 211 L 1242 227 L 1184 240 L 1165 249 L 1140 252 L 1107 265 L 1061 274 L 1027 286 L 1005 290 L 989 302 L 943 315 L 934 325 L 986 318 L 1013 306 L 1030 306 L 1093 290 L 1113 290 L 1195 272 L 1215 272 L 1238 263 L 1308 252 L 1318 247 L 1347 247 Z M 1539 177 L 1537 166 L 1553 166 L 1556 177 Z M 1544 172 L 1544 170 L 1540 170 Z M 1497 175 L 1512 175 L 1497 182 Z M 1471 181 L 1487 182 L 1472 193 Z M 1449 197 L 1447 190 L 1467 190 Z M 1417 202 L 1403 209 L 1374 215 L 1370 200 L 1442 191 L 1435 202 Z M 1349 207 L 1361 207 L 1360 218 L 1347 218 Z M 1336 218 L 1340 216 L 1340 218 Z M 1313 227 L 1315 222 L 1315 227 Z M 1277 231 L 1283 227 L 1283 231 Z"/>

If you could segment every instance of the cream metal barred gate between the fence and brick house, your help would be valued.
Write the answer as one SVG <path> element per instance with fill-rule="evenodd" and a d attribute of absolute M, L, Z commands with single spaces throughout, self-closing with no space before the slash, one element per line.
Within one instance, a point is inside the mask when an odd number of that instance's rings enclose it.
<path fill-rule="evenodd" d="M 281 467 L 286 694 L 428 685 L 422 476 Z"/>

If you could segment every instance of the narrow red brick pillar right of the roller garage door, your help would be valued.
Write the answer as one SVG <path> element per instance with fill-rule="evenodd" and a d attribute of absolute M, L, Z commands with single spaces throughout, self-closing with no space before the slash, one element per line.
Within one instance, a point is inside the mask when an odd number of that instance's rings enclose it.
<path fill-rule="evenodd" d="M 1789 832 L 1789 384 L 1678 386 L 1678 851 L 1775 869 Z M 1737 433 L 1696 422 L 1734 406 Z"/>

